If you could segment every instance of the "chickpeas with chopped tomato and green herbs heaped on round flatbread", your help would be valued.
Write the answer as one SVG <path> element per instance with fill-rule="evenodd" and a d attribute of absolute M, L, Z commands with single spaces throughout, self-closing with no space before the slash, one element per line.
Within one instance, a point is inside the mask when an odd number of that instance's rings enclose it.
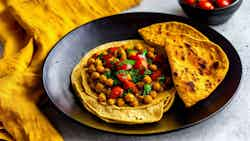
<path fill-rule="evenodd" d="M 84 66 L 99 103 L 119 107 L 150 104 L 171 88 L 168 62 L 150 46 L 114 46 L 92 55 Z"/>

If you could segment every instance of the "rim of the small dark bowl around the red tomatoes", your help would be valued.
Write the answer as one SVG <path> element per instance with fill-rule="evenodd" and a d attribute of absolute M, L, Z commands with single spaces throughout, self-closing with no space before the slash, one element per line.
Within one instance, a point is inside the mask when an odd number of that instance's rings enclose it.
<path fill-rule="evenodd" d="M 225 9 L 229 9 L 229 8 L 235 6 L 236 4 L 242 2 L 243 0 L 234 0 L 233 3 L 231 3 L 230 5 L 228 5 L 228 6 L 226 6 L 226 7 L 219 7 L 219 8 L 215 8 L 215 9 L 213 9 L 213 10 L 204 10 L 204 9 L 199 8 L 199 7 L 193 7 L 193 6 L 190 6 L 190 5 L 188 5 L 188 4 L 183 3 L 182 1 L 183 1 L 183 0 L 178 0 L 178 2 L 179 2 L 180 5 L 187 5 L 187 6 L 189 6 L 190 8 L 199 9 L 199 10 L 207 11 L 207 12 L 219 12 L 219 11 L 223 11 L 223 10 L 225 10 Z"/>

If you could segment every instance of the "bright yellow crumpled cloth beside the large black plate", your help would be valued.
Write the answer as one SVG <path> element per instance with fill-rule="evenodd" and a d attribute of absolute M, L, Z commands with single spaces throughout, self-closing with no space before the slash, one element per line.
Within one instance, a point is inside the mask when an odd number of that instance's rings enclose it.
<path fill-rule="evenodd" d="M 0 122 L 17 141 L 62 141 L 39 111 L 42 63 L 64 34 L 140 0 L 0 0 Z M 1 127 L 1 125 L 0 125 Z M 0 139 L 6 134 L 0 132 Z M 2 138 L 1 138 L 2 137 Z"/>

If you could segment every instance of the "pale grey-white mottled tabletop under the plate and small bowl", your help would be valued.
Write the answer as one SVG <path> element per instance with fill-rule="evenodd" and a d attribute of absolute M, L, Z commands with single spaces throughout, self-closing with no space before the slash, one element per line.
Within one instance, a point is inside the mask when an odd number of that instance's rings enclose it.
<path fill-rule="evenodd" d="M 184 16 L 177 0 L 143 0 L 133 11 L 153 11 Z M 122 136 L 80 126 L 47 104 L 44 112 L 62 133 L 65 141 L 249 141 L 250 140 L 250 1 L 230 21 L 215 30 L 229 39 L 237 49 L 243 65 L 238 93 L 222 112 L 211 119 L 174 133 L 154 136 Z"/>

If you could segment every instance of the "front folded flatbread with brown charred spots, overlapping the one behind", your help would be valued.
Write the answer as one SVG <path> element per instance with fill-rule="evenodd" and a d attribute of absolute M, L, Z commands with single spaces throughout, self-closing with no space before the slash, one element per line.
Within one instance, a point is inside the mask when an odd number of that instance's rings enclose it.
<path fill-rule="evenodd" d="M 186 107 L 207 98 L 225 78 L 229 61 L 215 43 L 185 34 L 140 32 L 143 39 L 165 48 L 173 82 Z"/>

